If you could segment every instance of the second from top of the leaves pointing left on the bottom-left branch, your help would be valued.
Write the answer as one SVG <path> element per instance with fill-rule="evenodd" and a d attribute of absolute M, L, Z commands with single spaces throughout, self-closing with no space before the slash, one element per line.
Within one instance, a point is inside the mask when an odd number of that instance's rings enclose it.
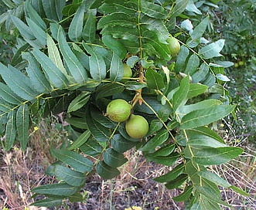
<path fill-rule="evenodd" d="M 84 174 L 73 171 L 72 169 L 62 166 L 60 164 L 54 165 L 53 174 L 55 174 L 57 178 L 60 178 L 71 186 L 79 187 L 81 185 L 84 185 L 85 182 Z"/>

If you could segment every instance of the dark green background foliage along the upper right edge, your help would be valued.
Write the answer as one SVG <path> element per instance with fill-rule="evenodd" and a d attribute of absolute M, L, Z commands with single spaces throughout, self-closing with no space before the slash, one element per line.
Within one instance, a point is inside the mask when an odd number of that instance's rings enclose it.
<path fill-rule="evenodd" d="M 226 39 L 222 53 L 234 62 L 227 69 L 227 88 L 237 103 L 237 120 L 230 120 L 238 140 L 255 144 L 256 126 L 256 1 L 222 1 L 215 14 L 215 36 Z"/>

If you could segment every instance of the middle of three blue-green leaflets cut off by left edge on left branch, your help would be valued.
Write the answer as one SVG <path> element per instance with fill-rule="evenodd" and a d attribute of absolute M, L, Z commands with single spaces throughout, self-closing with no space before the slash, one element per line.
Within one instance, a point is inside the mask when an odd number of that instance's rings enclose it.
<path fill-rule="evenodd" d="M 9 88 L 9 86 L 0 82 L 0 96 L 3 100 L 18 105 L 22 103 L 22 99 L 18 97 L 13 91 Z"/>

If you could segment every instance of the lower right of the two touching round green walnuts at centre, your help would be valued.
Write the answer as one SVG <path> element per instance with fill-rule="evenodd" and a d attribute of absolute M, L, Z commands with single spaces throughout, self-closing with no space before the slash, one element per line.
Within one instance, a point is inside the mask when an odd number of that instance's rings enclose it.
<path fill-rule="evenodd" d="M 125 124 L 125 130 L 130 137 L 145 137 L 148 134 L 148 121 L 140 115 L 131 114 L 131 117 Z"/>

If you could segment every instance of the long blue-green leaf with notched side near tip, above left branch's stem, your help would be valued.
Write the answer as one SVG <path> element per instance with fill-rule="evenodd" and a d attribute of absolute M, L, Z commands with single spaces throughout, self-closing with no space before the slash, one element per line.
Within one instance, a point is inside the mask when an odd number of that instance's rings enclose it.
<path fill-rule="evenodd" d="M 39 63 L 36 59 L 29 53 L 23 52 L 22 58 L 29 62 L 29 66 L 26 67 L 26 72 L 29 75 L 30 83 L 39 93 L 49 93 L 52 87 L 46 76 L 42 73 Z"/>

